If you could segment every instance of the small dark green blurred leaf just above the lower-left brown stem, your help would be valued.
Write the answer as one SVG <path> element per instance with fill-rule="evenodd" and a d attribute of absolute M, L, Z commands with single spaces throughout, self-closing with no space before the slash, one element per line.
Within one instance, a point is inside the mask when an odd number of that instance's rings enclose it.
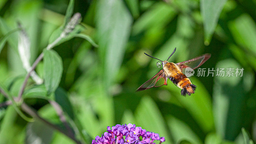
<path fill-rule="evenodd" d="M 62 88 L 57 88 L 55 91 L 55 101 L 61 106 L 64 112 L 68 114 L 68 116 L 74 120 L 74 111 L 71 103 L 68 99 L 67 92 L 65 92 Z"/>

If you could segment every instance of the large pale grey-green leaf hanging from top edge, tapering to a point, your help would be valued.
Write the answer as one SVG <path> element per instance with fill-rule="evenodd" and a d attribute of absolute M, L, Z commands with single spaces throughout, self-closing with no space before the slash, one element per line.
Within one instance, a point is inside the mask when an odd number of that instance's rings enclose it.
<path fill-rule="evenodd" d="M 99 38 L 99 57 L 103 63 L 105 86 L 110 86 L 123 61 L 132 17 L 123 1 L 99 0 L 96 8 L 96 27 Z"/>

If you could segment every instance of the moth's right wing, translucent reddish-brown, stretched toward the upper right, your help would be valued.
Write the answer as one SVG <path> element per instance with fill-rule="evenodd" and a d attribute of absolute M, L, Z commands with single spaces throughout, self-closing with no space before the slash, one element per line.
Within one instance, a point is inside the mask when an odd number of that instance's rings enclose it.
<path fill-rule="evenodd" d="M 178 65 L 178 67 L 181 69 L 182 73 L 185 73 L 186 68 L 189 67 L 189 68 L 192 68 L 192 69 L 196 69 L 196 68 L 200 67 L 210 57 L 211 57 L 210 53 L 205 53 L 205 54 L 203 54 L 199 57 L 196 57 L 194 59 L 176 63 L 176 65 Z"/>

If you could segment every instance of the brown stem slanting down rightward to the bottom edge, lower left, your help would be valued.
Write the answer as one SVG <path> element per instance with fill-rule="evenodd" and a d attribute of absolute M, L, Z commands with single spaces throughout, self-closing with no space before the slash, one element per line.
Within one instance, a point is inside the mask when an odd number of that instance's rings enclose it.
<path fill-rule="evenodd" d="M 39 116 L 39 115 L 36 113 L 36 111 L 35 111 L 34 109 L 30 108 L 27 104 L 22 103 L 22 104 L 21 104 L 21 108 L 22 108 L 22 110 L 24 110 L 26 113 L 28 113 L 30 116 L 35 117 L 35 118 L 41 120 L 41 121 L 44 122 L 45 124 L 51 126 L 53 129 L 58 130 L 59 132 L 65 134 L 65 135 L 68 136 L 70 139 L 74 140 L 77 144 L 81 144 L 81 142 L 80 142 L 79 140 L 76 140 L 74 134 L 70 134 L 69 132 L 63 130 L 63 129 L 60 128 L 59 126 L 48 122 L 47 120 L 45 120 L 44 118 L 42 118 L 41 116 Z"/>

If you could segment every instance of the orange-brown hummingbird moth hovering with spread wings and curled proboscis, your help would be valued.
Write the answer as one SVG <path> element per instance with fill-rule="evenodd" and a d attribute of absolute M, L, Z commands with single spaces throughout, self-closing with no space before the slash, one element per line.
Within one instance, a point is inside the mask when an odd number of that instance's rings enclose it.
<path fill-rule="evenodd" d="M 172 52 L 172 54 L 176 51 L 176 48 Z M 154 58 L 147 53 L 147 56 Z M 169 56 L 167 60 L 170 59 L 172 54 Z M 184 75 L 186 68 L 196 69 L 200 67 L 206 60 L 211 57 L 210 53 L 205 53 L 199 57 L 196 57 L 191 60 L 186 60 L 179 63 L 168 62 L 167 60 L 160 60 L 157 62 L 157 67 L 160 68 L 161 64 L 163 69 L 161 69 L 155 76 L 149 79 L 147 82 L 142 84 L 136 91 L 147 90 L 151 87 L 159 87 L 162 85 L 167 85 L 167 78 L 169 78 L 173 84 L 178 86 L 181 89 L 181 95 L 185 96 L 186 94 L 191 95 L 191 93 L 195 93 L 196 85 L 192 84 L 189 78 Z M 156 59 L 156 58 L 154 58 Z M 156 59 L 159 60 L 159 59 Z"/>

